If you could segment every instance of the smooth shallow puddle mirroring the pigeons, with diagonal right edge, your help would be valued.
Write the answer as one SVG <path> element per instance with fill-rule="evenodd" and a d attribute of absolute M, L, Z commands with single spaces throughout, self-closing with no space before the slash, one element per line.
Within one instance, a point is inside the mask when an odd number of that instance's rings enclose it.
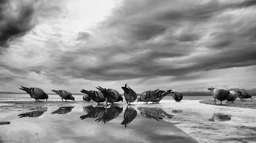
<path fill-rule="evenodd" d="M 2 142 L 197 142 L 161 108 L 139 105 L 39 106 L 6 113 Z M 31 118 L 33 117 L 33 118 Z"/>

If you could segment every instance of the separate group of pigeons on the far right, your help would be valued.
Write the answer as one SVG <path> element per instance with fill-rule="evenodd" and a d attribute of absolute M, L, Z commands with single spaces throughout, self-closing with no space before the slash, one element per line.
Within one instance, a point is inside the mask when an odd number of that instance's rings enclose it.
<path fill-rule="evenodd" d="M 231 102 L 234 103 L 234 100 L 236 100 L 238 97 L 241 101 L 245 100 L 245 98 L 251 98 L 251 95 L 246 93 L 245 91 L 228 91 L 223 88 L 208 88 L 208 90 L 211 92 L 212 97 L 214 97 L 214 102 L 216 104 L 216 99 L 221 101 L 227 100 L 226 103 Z"/>

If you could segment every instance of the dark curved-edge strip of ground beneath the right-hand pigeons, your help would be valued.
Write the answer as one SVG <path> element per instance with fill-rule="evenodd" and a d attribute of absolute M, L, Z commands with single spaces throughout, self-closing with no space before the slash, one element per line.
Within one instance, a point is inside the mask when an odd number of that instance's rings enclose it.
<path fill-rule="evenodd" d="M 254 99 L 246 99 L 243 101 L 237 99 L 236 101 L 234 101 L 234 103 L 226 103 L 227 101 L 225 100 L 225 101 L 222 101 L 222 105 L 220 104 L 220 101 L 217 100 L 216 102 L 217 103 L 215 104 L 214 100 L 200 101 L 200 103 L 210 104 L 210 105 L 256 109 L 256 100 Z"/>

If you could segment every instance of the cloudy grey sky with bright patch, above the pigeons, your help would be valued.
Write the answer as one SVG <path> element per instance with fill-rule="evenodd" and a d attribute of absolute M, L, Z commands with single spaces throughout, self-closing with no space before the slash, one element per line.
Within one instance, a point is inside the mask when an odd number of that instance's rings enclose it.
<path fill-rule="evenodd" d="M 256 88 L 256 1 L 0 1 L 0 92 Z"/>

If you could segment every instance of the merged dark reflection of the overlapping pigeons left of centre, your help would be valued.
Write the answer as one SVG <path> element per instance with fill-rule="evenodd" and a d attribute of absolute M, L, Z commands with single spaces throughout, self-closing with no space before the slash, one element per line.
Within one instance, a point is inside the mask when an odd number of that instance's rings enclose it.
<path fill-rule="evenodd" d="M 95 121 L 97 122 L 109 122 L 119 116 L 119 114 L 123 111 L 123 108 L 120 108 L 118 106 L 110 106 L 110 107 L 93 107 L 93 106 L 86 106 L 83 107 L 83 110 L 87 112 L 87 115 L 83 115 L 80 117 L 81 120 L 86 118 L 97 118 Z"/>

